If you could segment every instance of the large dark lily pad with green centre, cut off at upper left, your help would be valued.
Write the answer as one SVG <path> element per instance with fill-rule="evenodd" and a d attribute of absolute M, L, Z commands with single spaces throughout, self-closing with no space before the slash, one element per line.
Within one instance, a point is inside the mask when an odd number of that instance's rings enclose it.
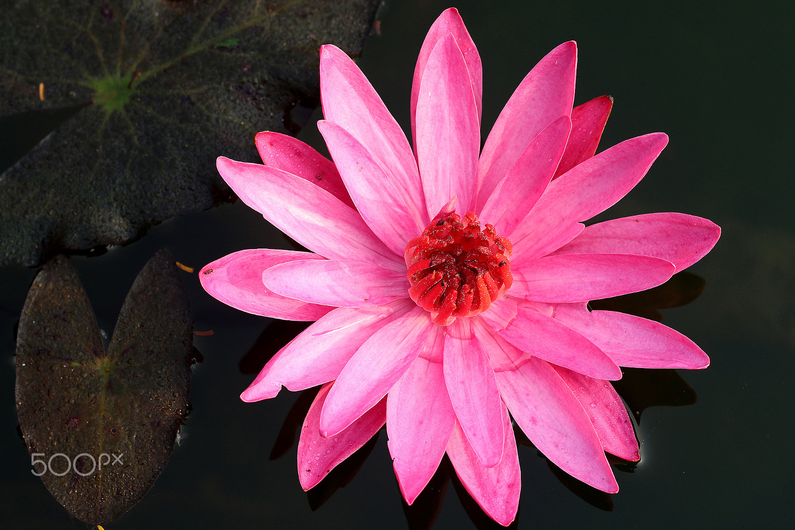
<path fill-rule="evenodd" d="M 0 168 L 0 266 L 228 198 L 215 158 L 254 162 L 255 133 L 295 132 L 293 107 L 319 99 L 318 48 L 357 55 L 378 4 L 0 0 L 0 115 L 56 127 L 69 112 L 53 110 L 90 103 Z"/>

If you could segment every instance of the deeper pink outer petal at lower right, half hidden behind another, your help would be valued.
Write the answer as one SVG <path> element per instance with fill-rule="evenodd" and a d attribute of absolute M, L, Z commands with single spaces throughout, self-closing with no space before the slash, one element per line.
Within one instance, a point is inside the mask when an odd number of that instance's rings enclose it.
<path fill-rule="evenodd" d="M 582 404 L 603 449 L 624 460 L 638 462 L 641 459 L 638 439 L 630 415 L 613 385 L 562 366 L 552 364 L 552 367 Z"/>

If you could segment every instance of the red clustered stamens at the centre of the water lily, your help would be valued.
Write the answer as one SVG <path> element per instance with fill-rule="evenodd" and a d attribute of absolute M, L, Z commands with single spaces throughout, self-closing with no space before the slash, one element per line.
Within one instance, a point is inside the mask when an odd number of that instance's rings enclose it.
<path fill-rule="evenodd" d="M 405 246 L 409 295 L 440 325 L 483 313 L 514 282 L 512 249 L 491 224 L 481 230 L 472 212 L 436 218 Z"/>

